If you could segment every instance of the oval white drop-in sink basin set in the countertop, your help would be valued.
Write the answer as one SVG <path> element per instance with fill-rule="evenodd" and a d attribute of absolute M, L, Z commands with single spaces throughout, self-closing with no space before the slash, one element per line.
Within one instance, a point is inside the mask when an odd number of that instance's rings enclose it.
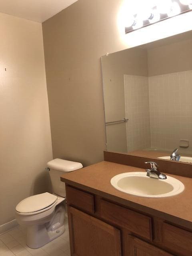
<path fill-rule="evenodd" d="M 126 172 L 111 179 L 111 184 L 121 192 L 141 197 L 162 198 L 176 196 L 185 189 L 179 180 L 167 176 L 159 180 L 146 176 L 146 172 Z"/>

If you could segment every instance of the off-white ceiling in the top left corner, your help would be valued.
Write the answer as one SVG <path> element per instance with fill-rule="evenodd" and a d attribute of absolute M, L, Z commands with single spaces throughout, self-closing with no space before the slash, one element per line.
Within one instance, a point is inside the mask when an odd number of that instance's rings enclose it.
<path fill-rule="evenodd" d="M 0 0 L 0 12 L 44 22 L 77 0 Z"/>

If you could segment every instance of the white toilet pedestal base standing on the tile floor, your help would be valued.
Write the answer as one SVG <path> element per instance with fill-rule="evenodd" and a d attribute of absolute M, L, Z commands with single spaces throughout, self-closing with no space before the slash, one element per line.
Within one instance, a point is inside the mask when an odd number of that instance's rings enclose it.
<path fill-rule="evenodd" d="M 32 249 L 37 249 L 48 244 L 65 232 L 64 228 L 65 207 L 63 204 L 56 206 L 54 216 L 45 224 L 30 225 L 27 228 L 26 244 Z"/>

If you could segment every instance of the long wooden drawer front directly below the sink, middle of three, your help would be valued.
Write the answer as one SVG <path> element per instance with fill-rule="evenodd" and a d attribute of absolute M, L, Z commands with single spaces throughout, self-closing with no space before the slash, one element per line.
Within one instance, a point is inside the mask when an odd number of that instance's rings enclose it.
<path fill-rule="evenodd" d="M 106 200 L 100 201 L 100 207 L 103 219 L 126 228 L 143 238 L 152 240 L 152 218 Z"/>

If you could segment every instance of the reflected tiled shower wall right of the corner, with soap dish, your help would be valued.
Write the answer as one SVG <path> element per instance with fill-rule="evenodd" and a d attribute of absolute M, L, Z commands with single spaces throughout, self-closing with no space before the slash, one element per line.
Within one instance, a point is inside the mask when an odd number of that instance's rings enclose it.
<path fill-rule="evenodd" d="M 151 146 L 192 152 L 192 70 L 149 77 Z"/>

